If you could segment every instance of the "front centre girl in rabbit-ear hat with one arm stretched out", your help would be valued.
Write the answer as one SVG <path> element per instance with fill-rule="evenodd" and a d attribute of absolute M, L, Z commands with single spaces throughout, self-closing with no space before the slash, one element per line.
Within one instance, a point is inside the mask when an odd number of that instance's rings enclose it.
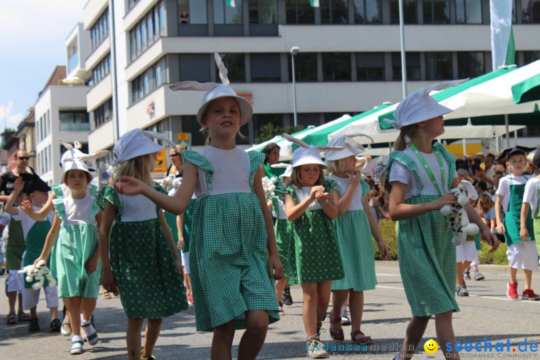
<path fill-rule="evenodd" d="M 184 212 L 195 191 L 190 267 L 197 330 L 213 330 L 211 359 L 230 359 L 235 329 L 246 328 L 238 357 L 254 359 L 264 344 L 268 323 L 279 320 L 272 277 L 281 278 L 283 268 L 259 171 L 264 155 L 245 152 L 235 144 L 253 109 L 229 86 L 227 69 L 217 53 L 214 58 L 223 84 L 171 85 L 172 90 L 208 90 L 197 120 L 209 133 L 210 146 L 200 153 L 182 152 L 186 165 L 176 195 L 161 195 L 132 176 L 124 176 L 124 183 L 116 188 L 144 194 L 173 214 Z"/>

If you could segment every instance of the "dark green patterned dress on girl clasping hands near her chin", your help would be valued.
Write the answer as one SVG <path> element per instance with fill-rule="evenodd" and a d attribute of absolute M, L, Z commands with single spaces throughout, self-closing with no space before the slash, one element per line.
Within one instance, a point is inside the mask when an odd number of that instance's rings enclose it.
<path fill-rule="evenodd" d="M 325 192 L 331 193 L 336 182 L 326 180 L 324 186 Z M 300 203 L 309 196 L 311 187 L 289 186 L 287 191 Z M 318 201 L 314 200 L 306 212 L 292 222 L 292 227 L 296 276 L 287 279 L 289 285 L 338 280 L 345 276 L 334 224 Z"/>

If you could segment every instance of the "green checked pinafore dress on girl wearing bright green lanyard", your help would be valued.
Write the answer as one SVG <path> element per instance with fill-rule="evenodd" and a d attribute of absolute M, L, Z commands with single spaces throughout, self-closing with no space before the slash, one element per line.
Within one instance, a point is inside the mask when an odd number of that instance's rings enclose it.
<path fill-rule="evenodd" d="M 442 144 L 434 145 L 447 161 L 448 174 L 455 174 L 455 157 Z M 417 205 L 440 198 L 439 195 L 422 194 L 422 178 L 416 162 L 402 151 L 390 153 L 385 169 L 390 179 L 390 168 L 398 161 L 413 172 L 417 191 L 405 203 Z M 435 178 L 440 179 L 438 169 L 432 169 Z M 454 176 L 448 176 L 448 188 Z M 431 316 L 460 311 L 455 299 L 456 287 L 456 247 L 452 242 L 454 234 L 448 227 L 448 218 L 439 211 L 430 211 L 411 219 L 399 221 L 397 235 L 397 257 L 400 264 L 401 280 L 413 316 Z"/>

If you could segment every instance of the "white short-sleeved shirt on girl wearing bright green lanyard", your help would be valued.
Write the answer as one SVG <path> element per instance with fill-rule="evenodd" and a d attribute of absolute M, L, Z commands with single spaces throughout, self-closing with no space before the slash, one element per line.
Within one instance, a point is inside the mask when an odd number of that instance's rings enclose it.
<path fill-rule="evenodd" d="M 407 185 L 407 192 L 405 194 L 405 198 L 408 199 L 413 195 L 422 194 L 422 195 L 439 195 L 437 190 L 435 189 L 435 186 L 431 182 L 431 179 L 429 179 L 429 176 L 427 172 L 424 170 L 420 160 L 416 157 L 416 155 L 413 153 L 412 150 L 410 150 L 410 147 L 407 147 L 405 150 L 403 150 L 403 153 L 409 155 L 411 159 L 413 159 L 414 162 L 416 162 L 416 165 L 419 168 L 419 175 L 422 180 L 422 183 L 424 185 L 421 192 L 418 191 L 417 184 L 416 184 L 416 175 L 413 173 L 411 169 L 401 164 L 399 161 L 394 161 L 392 163 L 392 168 L 390 168 L 390 182 L 393 181 L 399 181 L 402 184 Z M 431 154 L 424 154 L 421 153 L 424 159 L 426 160 L 428 166 L 431 168 L 431 171 L 433 172 L 433 175 L 435 176 L 435 180 L 437 181 L 437 184 L 439 188 L 441 189 L 442 193 L 447 193 L 448 188 L 448 164 L 445 161 L 444 157 L 441 155 L 442 164 L 444 167 L 444 174 L 445 174 L 445 182 L 446 184 L 442 184 L 442 177 L 441 172 L 439 170 L 439 165 L 437 161 L 437 157 L 434 153 Z M 457 173 L 454 172 L 453 179 L 457 178 Z"/>

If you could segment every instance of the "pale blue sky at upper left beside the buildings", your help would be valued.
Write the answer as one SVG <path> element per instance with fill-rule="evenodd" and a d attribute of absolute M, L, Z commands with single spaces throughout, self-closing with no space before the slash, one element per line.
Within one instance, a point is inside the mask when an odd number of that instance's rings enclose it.
<path fill-rule="evenodd" d="M 16 128 L 83 21 L 87 0 L 0 0 L 0 130 Z M 5 111 L 5 112 L 4 112 Z M 5 113 L 5 121 L 4 121 Z"/>

